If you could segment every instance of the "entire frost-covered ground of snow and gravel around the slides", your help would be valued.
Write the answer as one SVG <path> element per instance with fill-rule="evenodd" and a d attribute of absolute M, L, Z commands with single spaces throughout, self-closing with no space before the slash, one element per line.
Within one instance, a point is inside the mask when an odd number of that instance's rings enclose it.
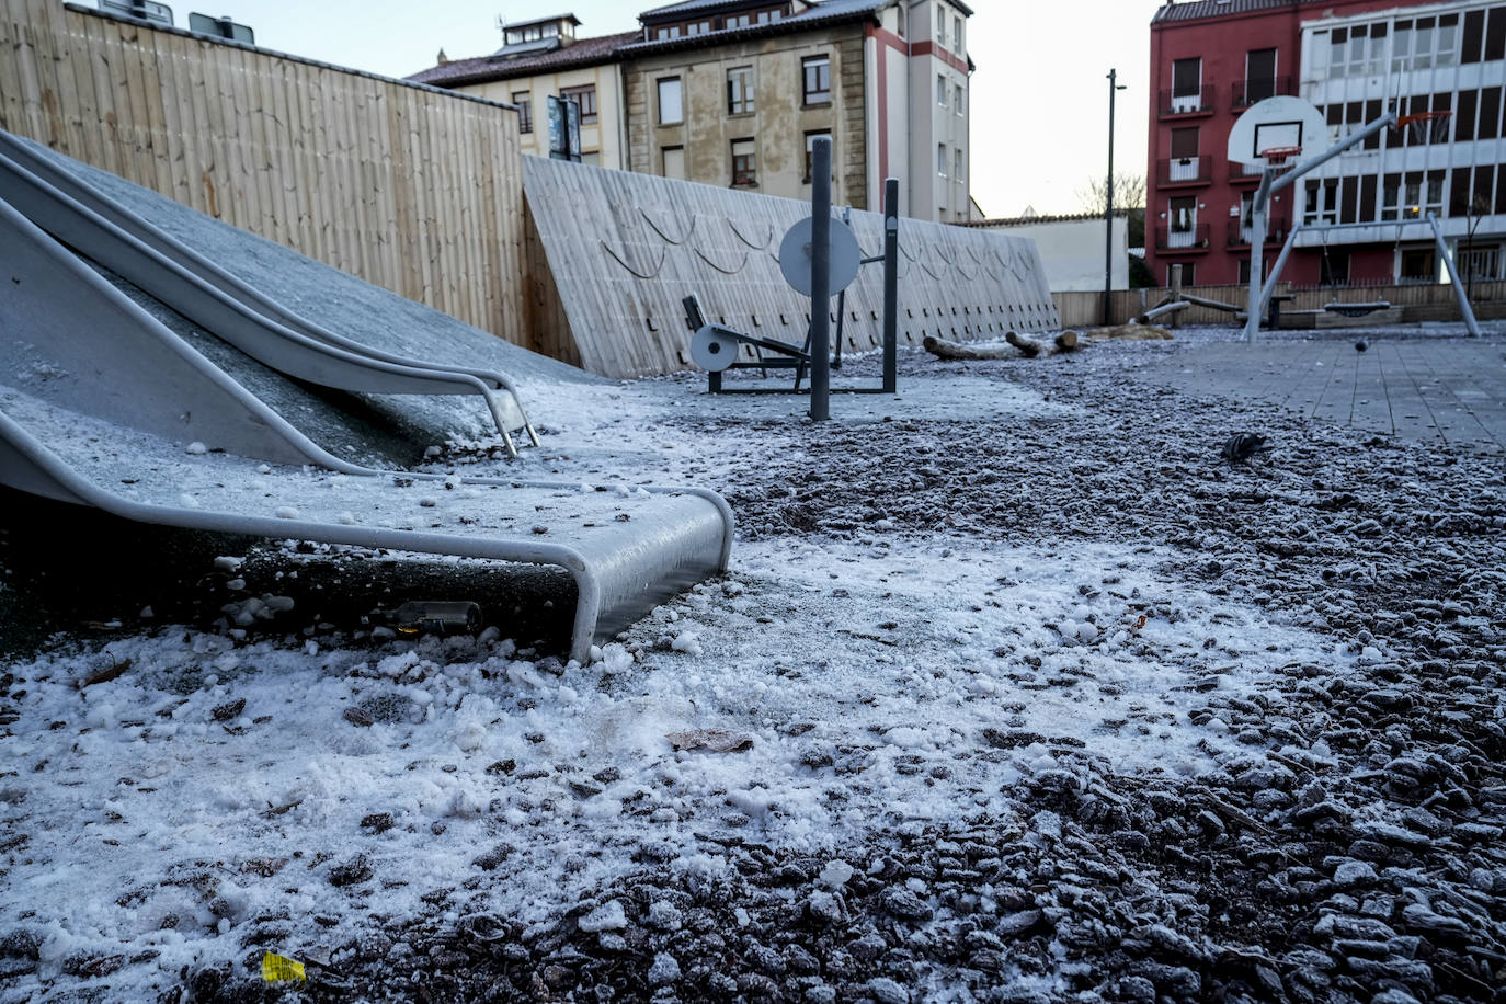
<path fill-rule="evenodd" d="M 1503 999 L 1501 461 L 1130 375 L 1221 337 L 907 355 L 825 426 L 557 387 L 438 470 L 739 519 L 587 667 L 321 622 L 294 573 L 373 555 L 292 546 L 9 659 L 0 999 Z"/>

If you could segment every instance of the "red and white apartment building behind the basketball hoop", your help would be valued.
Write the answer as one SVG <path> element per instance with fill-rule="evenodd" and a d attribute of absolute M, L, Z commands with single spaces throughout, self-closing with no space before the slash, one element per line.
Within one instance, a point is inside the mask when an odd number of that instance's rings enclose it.
<path fill-rule="evenodd" d="M 1146 259 L 1196 283 L 1247 281 L 1259 173 L 1226 158 L 1233 120 L 1273 95 L 1298 95 L 1328 138 L 1398 114 L 1450 111 L 1390 129 L 1277 196 L 1267 266 L 1294 221 L 1297 283 L 1437 281 L 1428 212 L 1461 274 L 1501 277 L 1506 244 L 1506 5 L 1495 0 L 1197 0 L 1151 24 L 1152 89 Z M 1428 140 L 1428 141 L 1425 141 Z"/>

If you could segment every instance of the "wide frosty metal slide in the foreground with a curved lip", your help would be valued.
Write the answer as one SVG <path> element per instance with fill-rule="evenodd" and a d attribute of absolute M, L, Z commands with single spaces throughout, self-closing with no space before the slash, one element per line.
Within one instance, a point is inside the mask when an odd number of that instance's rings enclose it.
<path fill-rule="evenodd" d="M 580 595 L 575 659 L 726 569 L 732 513 L 715 492 L 340 461 L 5 202 L 0 324 L 11 488 L 194 530 L 559 566 Z"/>

